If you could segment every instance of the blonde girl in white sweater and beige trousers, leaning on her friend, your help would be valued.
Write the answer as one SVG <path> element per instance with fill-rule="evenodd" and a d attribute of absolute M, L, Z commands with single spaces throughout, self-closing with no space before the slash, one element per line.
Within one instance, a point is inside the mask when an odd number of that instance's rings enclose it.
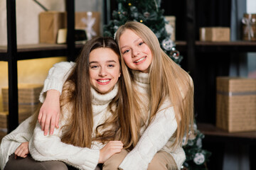
<path fill-rule="evenodd" d="M 181 169 L 186 159 L 181 142 L 184 135 L 193 132 L 191 77 L 161 50 L 156 35 L 142 23 L 130 21 L 120 26 L 116 40 L 122 56 L 127 91 L 122 98 L 128 105 L 132 145 L 114 154 L 105 165 L 124 170 Z M 58 115 L 49 108 L 41 108 L 38 119 L 42 124 Z M 46 122 L 44 130 L 48 132 Z M 56 124 L 58 121 L 51 122 L 50 132 Z"/>

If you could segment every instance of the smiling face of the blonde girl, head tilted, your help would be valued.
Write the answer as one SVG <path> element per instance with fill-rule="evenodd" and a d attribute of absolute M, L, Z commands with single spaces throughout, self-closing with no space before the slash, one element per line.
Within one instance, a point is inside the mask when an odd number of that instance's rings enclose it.
<path fill-rule="evenodd" d="M 124 62 L 130 69 L 149 72 L 152 53 L 148 45 L 132 30 L 126 29 L 119 38 L 119 47 Z"/>

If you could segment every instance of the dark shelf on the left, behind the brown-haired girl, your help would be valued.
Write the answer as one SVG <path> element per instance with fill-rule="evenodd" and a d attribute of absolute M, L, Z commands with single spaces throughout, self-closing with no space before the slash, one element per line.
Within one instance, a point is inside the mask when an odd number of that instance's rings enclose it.
<path fill-rule="evenodd" d="M 76 44 L 75 50 L 79 51 L 82 44 Z M 7 61 L 7 47 L 0 46 L 0 61 Z M 33 44 L 33 45 L 18 45 L 17 49 L 18 60 L 28 60 L 43 57 L 66 56 L 67 45 L 57 44 Z"/>

